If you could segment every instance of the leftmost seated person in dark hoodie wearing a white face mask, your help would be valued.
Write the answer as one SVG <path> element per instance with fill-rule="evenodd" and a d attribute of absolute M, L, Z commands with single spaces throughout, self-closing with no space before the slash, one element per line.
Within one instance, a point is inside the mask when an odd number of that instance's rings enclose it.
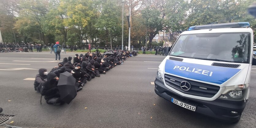
<path fill-rule="evenodd" d="M 39 74 L 36 75 L 34 81 L 34 88 L 37 92 L 40 92 L 41 86 L 39 86 L 44 81 L 47 81 L 47 69 L 41 68 L 38 70 Z"/>

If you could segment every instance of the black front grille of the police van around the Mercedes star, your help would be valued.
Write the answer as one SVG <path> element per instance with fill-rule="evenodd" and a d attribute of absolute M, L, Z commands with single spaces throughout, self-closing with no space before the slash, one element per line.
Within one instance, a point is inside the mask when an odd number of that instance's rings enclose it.
<path fill-rule="evenodd" d="M 175 77 L 168 74 L 164 75 L 164 79 L 165 79 L 166 85 L 172 88 L 175 88 L 176 90 L 183 92 L 185 94 L 194 95 L 194 96 L 211 98 L 214 95 L 216 95 L 217 92 L 220 90 L 220 87 L 216 85 L 210 85 L 202 82 L 191 81 L 191 80 Z M 183 89 L 181 89 L 180 87 L 181 81 L 188 81 L 191 85 L 191 88 L 188 91 L 184 91 Z"/>

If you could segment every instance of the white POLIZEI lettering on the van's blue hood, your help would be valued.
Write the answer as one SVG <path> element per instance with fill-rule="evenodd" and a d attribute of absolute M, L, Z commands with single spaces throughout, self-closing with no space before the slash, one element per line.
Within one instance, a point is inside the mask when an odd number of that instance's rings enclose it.
<path fill-rule="evenodd" d="M 197 68 L 189 68 L 189 67 L 184 67 L 184 66 L 174 66 L 173 68 L 174 70 L 176 69 L 179 69 L 181 71 L 187 71 L 187 72 L 193 72 L 193 73 L 199 73 L 199 74 L 202 74 L 202 75 L 206 75 L 206 76 L 212 76 L 212 73 L 211 71 L 207 71 L 207 70 L 202 70 L 202 69 L 197 69 Z"/>

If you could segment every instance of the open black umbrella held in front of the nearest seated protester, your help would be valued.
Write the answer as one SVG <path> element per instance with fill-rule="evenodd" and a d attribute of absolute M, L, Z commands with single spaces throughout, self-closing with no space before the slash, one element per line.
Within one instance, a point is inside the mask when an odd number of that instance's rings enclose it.
<path fill-rule="evenodd" d="M 77 87 L 75 87 L 75 78 L 69 72 L 59 74 L 59 88 L 60 99 L 69 104 L 76 96 Z"/>

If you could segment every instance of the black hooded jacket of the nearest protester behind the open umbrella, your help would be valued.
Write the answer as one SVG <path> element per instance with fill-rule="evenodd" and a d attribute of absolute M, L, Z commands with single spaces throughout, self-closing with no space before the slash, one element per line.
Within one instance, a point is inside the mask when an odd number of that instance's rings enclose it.
<path fill-rule="evenodd" d="M 53 97 L 60 97 L 59 89 L 57 88 L 58 81 L 54 79 L 56 76 L 55 73 L 49 73 L 47 75 L 47 81 L 42 83 L 41 94 L 44 96 L 45 100 Z"/>

